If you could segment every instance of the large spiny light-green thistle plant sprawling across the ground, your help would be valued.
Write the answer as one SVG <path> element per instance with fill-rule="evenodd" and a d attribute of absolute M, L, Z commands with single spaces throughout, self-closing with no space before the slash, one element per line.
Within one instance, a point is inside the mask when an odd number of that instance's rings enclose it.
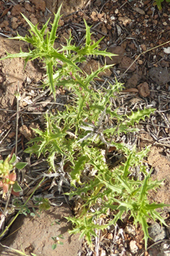
<path fill-rule="evenodd" d="M 145 247 L 148 241 L 147 218 L 158 219 L 166 225 L 161 215 L 156 211 L 164 204 L 150 204 L 148 191 L 155 189 L 161 183 L 152 181 L 150 173 L 143 164 L 149 148 L 138 152 L 135 146 L 122 142 L 123 134 L 137 132 L 134 128 L 141 119 L 149 117 L 153 109 L 137 110 L 129 115 L 120 115 L 114 108 L 114 99 L 122 90 L 120 83 L 108 83 L 107 88 L 94 88 L 93 81 L 98 73 L 111 67 L 105 65 L 92 70 L 87 75 L 80 70 L 78 64 L 85 62 L 89 55 L 111 57 L 113 54 L 100 51 L 102 38 L 95 42 L 91 40 L 90 27 L 85 22 L 85 43 L 82 46 L 72 45 L 70 34 L 67 46 L 54 49 L 56 30 L 59 22 L 59 11 L 55 15 L 51 32 L 48 32 L 48 22 L 38 30 L 38 25 L 30 25 L 30 36 L 17 36 L 15 39 L 27 41 L 34 46 L 28 53 L 7 54 L 7 58 L 24 57 L 28 60 L 41 59 L 46 63 L 47 81 L 56 99 L 56 87 L 64 86 L 72 94 L 72 103 L 66 104 L 63 111 L 56 115 L 46 113 L 46 128 L 41 131 L 34 129 L 38 136 L 29 141 L 30 146 L 25 152 L 43 154 L 50 165 L 50 171 L 60 177 L 59 184 L 64 182 L 64 173 L 59 172 L 56 160 L 60 159 L 63 166 L 69 163 L 69 177 L 72 185 L 69 197 L 81 199 L 80 212 L 74 218 L 67 218 L 74 224 L 70 233 L 80 232 L 91 242 L 91 236 L 96 236 L 95 229 L 103 229 L 116 224 L 124 212 L 134 219 L 135 225 L 140 223 L 144 231 Z M 109 166 L 107 152 L 109 149 L 120 157 L 119 164 L 114 168 Z M 140 168 L 143 178 L 135 176 L 136 168 Z M 100 218 L 114 215 L 113 220 L 98 225 Z"/>

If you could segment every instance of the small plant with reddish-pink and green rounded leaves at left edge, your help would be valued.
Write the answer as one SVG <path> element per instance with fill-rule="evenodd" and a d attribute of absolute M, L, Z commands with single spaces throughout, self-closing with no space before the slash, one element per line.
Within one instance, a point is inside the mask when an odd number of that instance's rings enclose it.
<path fill-rule="evenodd" d="M 16 181 L 17 174 L 14 169 L 24 168 L 27 162 L 16 162 L 16 160 L 17 157 L 15 154 L 12 155 L 11 160 L 10 155 L 6 160 L 0 160 L 0 187 L 3 189 L 3 197 L 5 197 L 9 191 L 9 186 L 12 186 L 14 192 L 22 190 Z"/>

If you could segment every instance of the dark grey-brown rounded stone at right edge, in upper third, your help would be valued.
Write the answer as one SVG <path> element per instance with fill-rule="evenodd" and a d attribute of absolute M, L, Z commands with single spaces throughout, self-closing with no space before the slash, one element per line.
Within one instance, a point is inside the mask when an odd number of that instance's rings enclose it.
<path fill-rule="evenodd" d="M 163 86 L 170 81 L 169 71 L 163 67 L 152 67 L 148 74 L 158 86 Z"/>

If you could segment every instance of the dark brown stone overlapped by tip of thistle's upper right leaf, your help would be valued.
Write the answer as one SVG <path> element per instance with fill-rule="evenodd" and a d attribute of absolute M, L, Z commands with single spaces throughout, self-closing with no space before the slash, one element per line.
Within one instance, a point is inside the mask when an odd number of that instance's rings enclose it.
<path fill-rule="evenodd" d="M 112 56 L 111 59 L 109 57 L 106 57 L 106 64 L 119 64 L 122 61 L 123 55 L 124 55 L 124 49 L 122 46 L 110 46 L 109 49 L 107 49 L 108 52 L 111 52 L 112 54 L 116 54 L 117 56 Z"/>

